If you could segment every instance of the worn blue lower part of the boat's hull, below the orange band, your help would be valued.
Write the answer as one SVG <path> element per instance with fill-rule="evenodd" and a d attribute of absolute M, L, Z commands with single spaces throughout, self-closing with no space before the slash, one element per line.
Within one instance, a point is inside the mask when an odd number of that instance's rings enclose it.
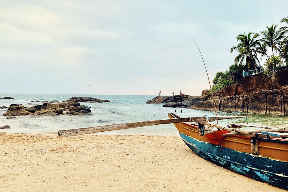
<path fill-rule="evenodd" d="M 288 190 L 287 162 L 221 147 L 181 132 L 180 136 L 200 157 L 236 173 Z"/>

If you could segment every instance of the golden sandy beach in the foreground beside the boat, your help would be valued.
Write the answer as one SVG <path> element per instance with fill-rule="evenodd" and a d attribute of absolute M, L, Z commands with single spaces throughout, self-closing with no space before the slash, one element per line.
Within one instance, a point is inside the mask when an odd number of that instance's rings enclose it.
<path fill-rule="evenodd" d="M 285 191 L 198 157 L 180 136 L 0 136 L 1 191 Z"/>

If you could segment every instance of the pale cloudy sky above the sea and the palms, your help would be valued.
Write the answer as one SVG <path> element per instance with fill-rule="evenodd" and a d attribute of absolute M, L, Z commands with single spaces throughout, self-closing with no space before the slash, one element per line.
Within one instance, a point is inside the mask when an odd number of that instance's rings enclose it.
<path fill-rule="evenodd" d="M 288 1 L 0 0 L 0 93 L 200 96 Z"/>

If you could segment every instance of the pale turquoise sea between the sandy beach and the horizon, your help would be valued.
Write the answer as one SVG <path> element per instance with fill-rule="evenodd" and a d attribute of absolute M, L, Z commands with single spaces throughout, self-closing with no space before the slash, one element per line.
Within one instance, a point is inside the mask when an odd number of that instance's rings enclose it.
<path fill-rule="evenodd" d="M 58 100 L 65 101 L 71 97 L 92 97 L 111 102 L 90 103 L 81 102 L 91 109 L 93 115 L 58 115 L 58 116 L 16 116 L 16 119 L 7 119 L 3 114 L 6 109 L 0 109 L 0 127 L 9 125 L 10 129 L 1 129 L 0 132 L 9 133 L 34 133 L 34 134 L 58 134 L 58 130 L 68 130 L 76 128 L 88 128 L 103 125 L 112 125 L 118 123 L 130 123 L 138 121 L 151 121 L 169 119 L 168 113 L 175 113 L 180 117 L 199 117 L 204 115 L 215 116 L 214 111 L 202 111 L 186 108 L 163 107 L 163 104 L 147 104 L 146 101 L 155 96 L 147 95 L 69 95 L 69 94 L 0 94 L 0 98 L 12 97 L 15 100 L 0 100 L 0 107 L 9 107 L 11 104 L 22 104 L 25 107 L 31 107 L 41 102 L 32 102 L 35 100 L 47 101 Z M 182 110 L 182 113 L 180 112 Z M 288 117 L 275 115 L 258 115 L 248 113 L 229 113 L 217 112 L 218 116 L 239 116 L 252 115 L 248 118 L 249 123 L 261 123 L 270 126 L 285 126 L 288 124 Z M 247 122 L 244 118 L 226 119 L 219 121 L 222 126 L 227 123 Z M 147 126 L 139 128 L 130 128 L 102 132 L 97 134 L 133 134 L 133 135 L 179 135 L 179 132 L 173 124 L 162 124 L 156 126 Z"/>

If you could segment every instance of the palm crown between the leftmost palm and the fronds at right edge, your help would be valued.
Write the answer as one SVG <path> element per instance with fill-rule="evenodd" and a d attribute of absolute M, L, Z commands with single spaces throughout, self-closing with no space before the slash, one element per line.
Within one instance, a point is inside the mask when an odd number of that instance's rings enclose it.
<path fill-rule="evenodd" d="M 283 35 L 283 28 L 280 28 L 278 31 L 276 30 L 278 24 L 274 26 L 272 24 L 271 27 L 267 26 L 267 30 L 261 31 L 261 34 L 264 36 L 260 41 L 263 43 L 262 48 L 264 50 L 264 54 L 266 55 L 268 47 L 272 48 L 272 55 L 274 55 L 275 52 L 280 52 L 281 50 L 281 43 L 284 39 Z"/>

